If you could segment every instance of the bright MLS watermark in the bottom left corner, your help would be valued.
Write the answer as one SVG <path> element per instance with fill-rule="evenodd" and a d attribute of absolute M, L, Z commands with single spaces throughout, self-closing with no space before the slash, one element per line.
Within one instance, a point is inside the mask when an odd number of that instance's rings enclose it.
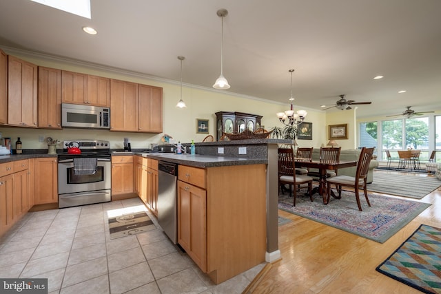
<path fill-rule="evenodd" d="M 0 294 L 48 294 L 48 279 L 1 279 Z"/>

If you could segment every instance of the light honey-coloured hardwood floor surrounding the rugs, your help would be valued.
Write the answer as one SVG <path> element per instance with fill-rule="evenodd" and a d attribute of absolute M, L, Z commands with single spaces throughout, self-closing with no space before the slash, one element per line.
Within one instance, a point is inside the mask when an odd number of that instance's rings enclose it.
<path fill-rule="evenodd" d="M 282 259 L 253 293 L 421 293 L 375 270 L 420 224 L 441 228 L 441 188 L 419 201 L 432 205 L 383 244 L 279 210 L 292 220 L 279 227 Z"/>

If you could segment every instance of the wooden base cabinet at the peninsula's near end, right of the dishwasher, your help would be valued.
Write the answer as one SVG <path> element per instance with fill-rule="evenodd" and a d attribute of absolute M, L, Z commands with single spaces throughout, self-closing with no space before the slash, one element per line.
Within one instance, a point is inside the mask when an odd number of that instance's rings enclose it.
<path fill-rule="evenodd" d="M 266 165 L 178 167 L 178 243 L 219 284 L 265 262 Z"/>

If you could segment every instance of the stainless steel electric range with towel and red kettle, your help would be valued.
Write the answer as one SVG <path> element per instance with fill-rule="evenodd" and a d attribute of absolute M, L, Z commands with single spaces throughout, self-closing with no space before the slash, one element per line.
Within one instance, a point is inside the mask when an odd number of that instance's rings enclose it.
<path fill-rule="evenodd" d="M 81 154 L 69 154 L 69 149 Z M 103 140 L 63 141 L 58 156 L 59 207 L 109 202 L 111 197 L 110 143 Z"/>

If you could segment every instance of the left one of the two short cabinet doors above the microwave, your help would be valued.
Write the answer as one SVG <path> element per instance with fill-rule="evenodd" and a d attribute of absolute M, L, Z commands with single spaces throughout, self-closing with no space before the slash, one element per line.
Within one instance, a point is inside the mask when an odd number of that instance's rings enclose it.
<path fill-rule="evenodd" d="M 63 103 L 87 104 L 87 74 L 61 71 L 61 101 Z"/>

